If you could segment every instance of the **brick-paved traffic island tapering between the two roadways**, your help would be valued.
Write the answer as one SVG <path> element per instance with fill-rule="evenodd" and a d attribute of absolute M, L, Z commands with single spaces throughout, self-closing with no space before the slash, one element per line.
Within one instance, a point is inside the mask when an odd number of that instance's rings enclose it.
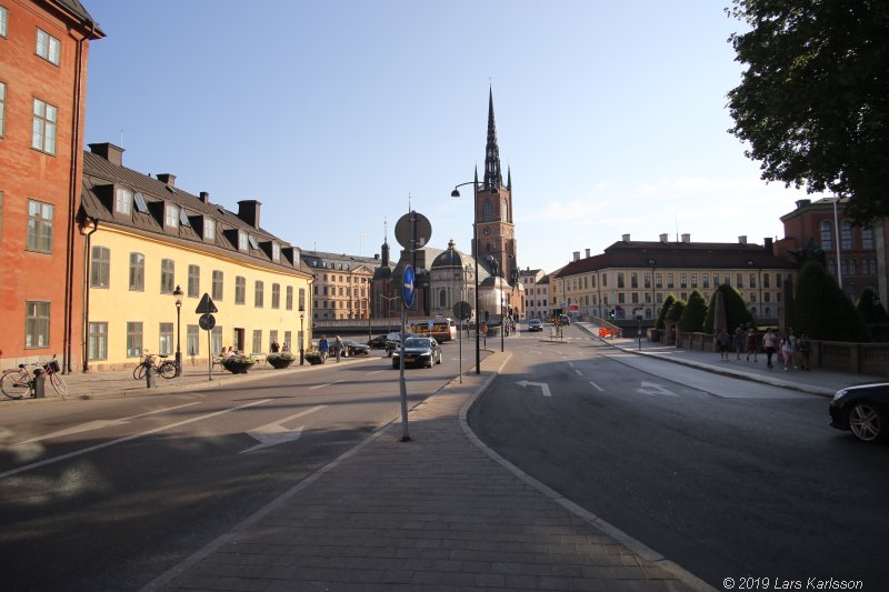
<path fill-rule="evenodd" d="M 466 413 L 495 353 L 146 590 L 712 590 L 500 459 Z"/>

